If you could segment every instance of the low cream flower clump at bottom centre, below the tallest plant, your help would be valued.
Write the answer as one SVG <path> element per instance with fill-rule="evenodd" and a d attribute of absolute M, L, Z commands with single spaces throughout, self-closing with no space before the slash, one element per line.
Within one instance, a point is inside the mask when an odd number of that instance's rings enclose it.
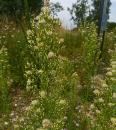
<path fill-rule="evenodd" d="M 53 96 L 53 95 L 52 95 Z M 23 117 L 17 119 L 15 130 L 62 129 L 66 120 L 68 102 L 58 97 L 53 98 L 45 91 L 39 91 L 37 99 L 26 107 Z"/>

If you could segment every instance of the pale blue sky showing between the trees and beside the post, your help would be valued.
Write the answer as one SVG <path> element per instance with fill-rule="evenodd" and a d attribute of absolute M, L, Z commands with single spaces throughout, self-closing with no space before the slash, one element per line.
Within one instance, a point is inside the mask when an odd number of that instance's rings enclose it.
<path fill-rule="evenodd" d="M 72 7 L 72 4 L 75 3 L 77 0 L 50 0 L 52 2 L 60 2 L 61 5 L 64 7 L 64 11 L 58 14 L 59 18 L 62 21 L 62 25 L 65 28 L 72 28 L 74 27 L 73 21 L 70 21 L 70 13 L 67 11 L 67 7 Z M 109 21 L 116 22 L 116 0 L 111 0 L 111 13 Z"/>

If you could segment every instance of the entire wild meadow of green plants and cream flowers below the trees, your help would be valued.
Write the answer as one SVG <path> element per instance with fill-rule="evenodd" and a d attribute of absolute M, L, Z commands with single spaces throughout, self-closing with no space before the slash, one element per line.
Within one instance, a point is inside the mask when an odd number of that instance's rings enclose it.
<path fill-rule="evenodd" d="M 65 30 L 48 7 L 0 24 L 0 130 L 116 130 L 116 29 L 101 52 L 94 23 Z"/>

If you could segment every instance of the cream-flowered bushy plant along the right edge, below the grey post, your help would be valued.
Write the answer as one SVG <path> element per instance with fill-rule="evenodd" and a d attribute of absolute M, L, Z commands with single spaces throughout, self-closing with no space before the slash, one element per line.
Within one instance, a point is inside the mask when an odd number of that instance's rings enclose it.
<path fill-rule="evenodd" d="M 102 75 L 94 76 L 93 93 L 94 100 L 89 103 L 86 111 L 87 120 L 89 120 L 89 129 L 96 130 L 114 130 L 116 128 L 116 52 L 112 53 L 110 68 L 107 68 L 105 78 Z"/>

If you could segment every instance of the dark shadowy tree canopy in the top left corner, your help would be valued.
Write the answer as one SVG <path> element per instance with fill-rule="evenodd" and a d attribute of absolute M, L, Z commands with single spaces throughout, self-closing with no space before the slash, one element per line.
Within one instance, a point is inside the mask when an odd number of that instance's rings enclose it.
<path fill-rule="evenodd" d="M 28 11 L 31 13 L 40 12 L 43 0 L 0 0 L 0 15 L 14 16 L 14 13 L 18 16 L 25 14 L 25 10 L 28 4 Z"/>

